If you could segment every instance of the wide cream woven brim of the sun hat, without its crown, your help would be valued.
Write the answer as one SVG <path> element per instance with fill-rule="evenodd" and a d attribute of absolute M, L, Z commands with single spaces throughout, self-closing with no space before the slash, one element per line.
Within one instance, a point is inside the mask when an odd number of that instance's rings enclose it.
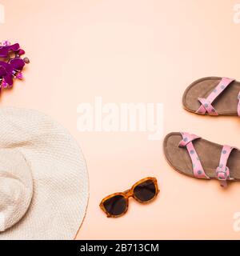
<path fill-rule="evenodd" d="M 0 239 L 73 239 L 89 197 L 86 162 L 74 138 L 45 114 L 2 107 L 0 149 L 22 153 L 34 184 L 26 214 Z"/>

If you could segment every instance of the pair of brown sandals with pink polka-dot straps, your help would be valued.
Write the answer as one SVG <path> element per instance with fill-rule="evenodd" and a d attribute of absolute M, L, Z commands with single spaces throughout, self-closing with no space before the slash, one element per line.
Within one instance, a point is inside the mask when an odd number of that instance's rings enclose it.
<path fill-rule="evenodd" d="M 201 78 L 193 82 L 182 98 L 186 110 L 212 116 L 240 117 L 240 82 L 230 78 Z M 194 134 L 170 133 L 164 139 L 164 153 L 175 170 L 194 178 L 240 181 L 240 150 L 209 142 Z"/>

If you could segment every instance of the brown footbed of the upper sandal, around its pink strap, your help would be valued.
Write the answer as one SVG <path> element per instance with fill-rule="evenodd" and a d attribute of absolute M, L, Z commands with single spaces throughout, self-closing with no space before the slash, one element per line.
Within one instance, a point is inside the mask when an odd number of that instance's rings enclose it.
<path fill-rule="evenodd" d="M 198 98 L 207 98 L 222 78 L 201 78 L 186 88 L 182 97 L 184 108 L 196 112 L 201 106 Z M 240 82 L 234 81 L 213 102 L 214 109 L 219 115 L 238 115 L 238 93 Z"/>

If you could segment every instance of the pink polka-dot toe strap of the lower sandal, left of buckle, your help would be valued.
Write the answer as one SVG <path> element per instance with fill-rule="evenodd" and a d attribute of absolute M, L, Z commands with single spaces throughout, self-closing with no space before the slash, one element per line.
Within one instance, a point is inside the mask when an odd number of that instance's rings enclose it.
<path fill-rule="evenodd" d="M 194 177 L 195 178 L 207 178 L 209 177 L 206 175 L 205 171 L 202 168 L 202 163 L 200 159 L 198 158 L 198 154 L 194 148 L 194 140 L 198 139 L 197 135 L 194 134 L 188 134 L 182 132 L 182 141 L 179 142 L 179 147 L 186 147 L 186 150 L 188 151 L 188 154 L 190 155 L 190 159 L 193 164 L 193 170 L 194 170 Z"/>

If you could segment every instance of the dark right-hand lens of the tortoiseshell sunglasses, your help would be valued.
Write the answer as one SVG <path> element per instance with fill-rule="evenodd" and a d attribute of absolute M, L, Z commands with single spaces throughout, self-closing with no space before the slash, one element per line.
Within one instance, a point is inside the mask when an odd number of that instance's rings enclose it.
<path fill-rule="evenodd" d="M 134 188 L 134 196 L 142 202 L 150 201 L 157 193 L 154 182 L 147 180 Z"/>

